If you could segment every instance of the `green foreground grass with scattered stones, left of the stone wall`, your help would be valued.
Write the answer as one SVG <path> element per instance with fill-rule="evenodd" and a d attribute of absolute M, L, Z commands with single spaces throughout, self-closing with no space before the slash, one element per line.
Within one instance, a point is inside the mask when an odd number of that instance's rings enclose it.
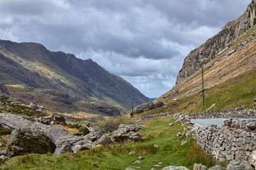
<path fill-rule="evenodd" d="M 205 164 L 210 167 L 216 164 L 205 152 L 195 147 L 191 138 L 186 145 L 181 142 L 186 136 L 176 137 L 177 132 L 183 131 L 180 123 L 174 123 L 170 118 L 154 118 L 143 123 L 148 128 L 139 132 L 145 139 L 132 142 L 129 145 L 106 145 L 96 147 L 90 151 L 82 151 L 77 154 L 29 154 L 28 156 L 14 157 L 0 169 L 151 169 L 161 162 L 164 166 L 186 166 L 193 169 L 193 164 Z M 154 147 L 158 145 L 159 147 Z M 135 151 L 136 154 L 129 155 Z M 196 156 L 195 156 L 196 155 Z M 142 156 L 142 165 L 132 165 L 137 157 Z M 195 159 L 192 159 L 195 158 Z"/>

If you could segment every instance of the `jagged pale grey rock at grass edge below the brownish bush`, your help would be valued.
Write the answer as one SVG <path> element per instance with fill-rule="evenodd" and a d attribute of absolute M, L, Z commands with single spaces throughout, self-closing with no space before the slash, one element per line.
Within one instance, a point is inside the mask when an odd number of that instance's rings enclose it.
<path fill-rule="evenodd" d="M 119 125 L 119 128 L 113 132 L 111 140 L 113 142 L 138 141 L 142 135 L 139 135 L 137 132 L 144 128 L 146 128 L 144 125 Z"/>

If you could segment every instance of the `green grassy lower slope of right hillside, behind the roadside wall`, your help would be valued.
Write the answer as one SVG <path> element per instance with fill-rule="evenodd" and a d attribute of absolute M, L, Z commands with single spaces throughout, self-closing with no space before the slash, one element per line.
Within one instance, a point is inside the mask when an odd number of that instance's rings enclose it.
<path fill-rule="evenodd" d="M 242 106 L 252 108 L 254 105 L 253 99 L 256 97 L 256 68 L 233 79 L 228 79 L 228 81 L 213 86 L 210 89 L 206 89 L 205 95 L 206 109 L 215 103 L 215 107 L 211 109 L 212 111 Z M 164 112 L 186 114 L 198 111 L 203 111 L 201 93 L 181 98 L 176 103 L 170 101 L 166 107 L 157 108 L 143 115 Z"/>

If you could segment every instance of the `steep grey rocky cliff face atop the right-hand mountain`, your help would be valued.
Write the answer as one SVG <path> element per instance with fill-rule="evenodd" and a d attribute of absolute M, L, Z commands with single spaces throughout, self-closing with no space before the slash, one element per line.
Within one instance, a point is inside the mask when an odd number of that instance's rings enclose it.
<path fill-rule="evenodd" d="M 201 69 L 203 64 L 218 57 L 225 50 L 229 50 L 229 47 L 236 38 L 252 28 L 252 26 L 255 26 L 255 16 L 256 0 L 252 0 L 240 18 L 227 23 L 217 35 L 208 39 L 203 45 L 188 54 L 183 62 L 182 69 L 178 72 L 176 84 L 181 83 L 181 81 L 191 76 L 198 69 Z"/>

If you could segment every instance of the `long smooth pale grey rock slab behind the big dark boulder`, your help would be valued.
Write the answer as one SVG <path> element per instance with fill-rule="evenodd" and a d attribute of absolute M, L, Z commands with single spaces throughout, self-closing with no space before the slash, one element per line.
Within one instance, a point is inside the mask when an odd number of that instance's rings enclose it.
<path fill-rule="evenodd" d="M 0 125 L 9 130 L 15 130 L 18 128 L 31 128 L 37 129 L 45 133 L 50 137 L 57 147 L 61 147 L 65 143 L 72 145 L 79 140 L 83 140 L 82 137 L 76 137 L 70 134 L 67 130 L 63 130 L 57 126 L 44 125 L 42 123 L 33 123 L 30 120 L 26 120 L 19 115 L 12 115 L 9 113 L 0 113 Z"/>

